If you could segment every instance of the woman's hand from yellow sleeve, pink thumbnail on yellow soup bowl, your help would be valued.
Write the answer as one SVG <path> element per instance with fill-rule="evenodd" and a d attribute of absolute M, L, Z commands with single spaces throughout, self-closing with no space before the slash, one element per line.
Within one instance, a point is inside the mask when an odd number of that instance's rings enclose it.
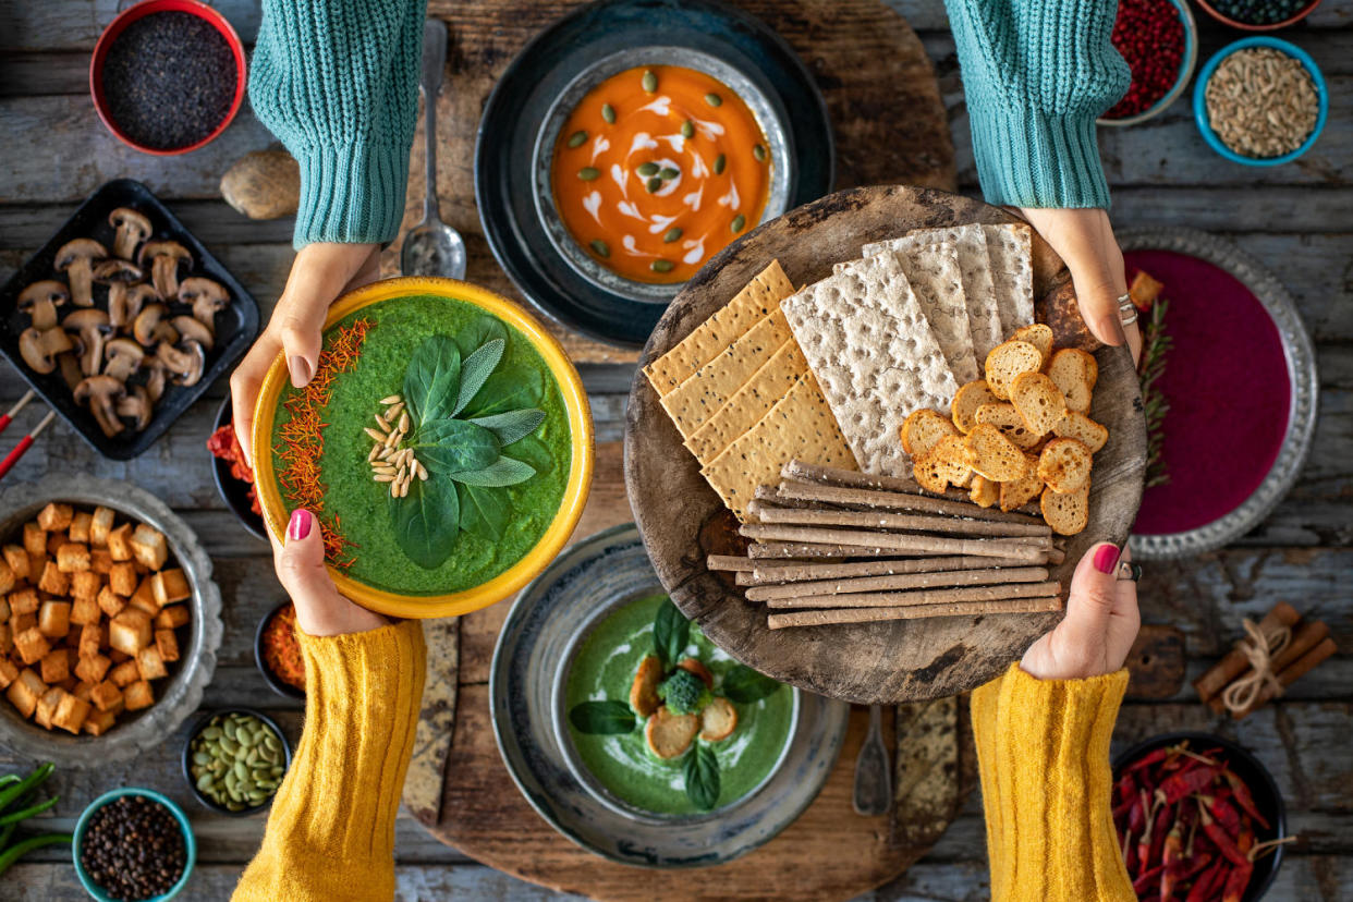
<path fill-rule="evenodd" d="M 296 625 L 307 636 L 342 636 L 387 626 L 380 614 L 368 611 L 338 594 L 325 568 L 325 540 L 319 521 L 303 507 L 291 513 L 287 541 L 273 540 L 272 560 L 281 587 L 296 606 Z"/>

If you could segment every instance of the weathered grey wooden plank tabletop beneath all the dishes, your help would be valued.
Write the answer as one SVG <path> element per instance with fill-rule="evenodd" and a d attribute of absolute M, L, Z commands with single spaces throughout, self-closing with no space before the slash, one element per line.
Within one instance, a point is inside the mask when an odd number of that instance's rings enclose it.
<path fill-rule="evenodd" d="M 942 0 L 889 3 L 920 32 L 935 61 L 950 110 L 959 184 L 976 193 L 967 116 Z M 89 51 L 116 5 L 116 0 L 0 0 L 0 279 L 7 279 L 95 188 L 131 176 L 169 201 L 265 308 L 271 307 L 291 261 L 291 222 L 249 222 L 216 193 L 225 168 L 269 145 L 271 135 L 246 108 L 222 138 L 187 157 L 149 157 L 118 145 L 95 118 L 87 87 Z M 246 42 L 252 39 L 258 22 L 256 0 L 216 0 L 215 5 Z M 1203 58 L 1242 37 L 1215 27 L 1201 11 L 1196 15 Z M 1219 730 L 1250 746 L 1277 778 L 1291 828 L 1302 836 L 1289 848 L 1269 898 L 1333 902 L 1348 899 L 1346 887 L 1353 886 L 1353 0 L 1325 0 L 1306 24 L 1280 37 L 1310 51 L 1330 87 L 1325 134 L 1302 161 L 1273 169 L 1224 162 L 1199 137 L 1187 97 L 1145 126 L 1100 133 L 1114 185 L 1115 222 L 1206 229 L 1265 262 L 1296 296 L 1321 368 L 1315 445 L 1291 496 L 1231 548 L 1149 565 L 1142 615 L 1146 622 L 1173 623 L 1184 632 L 1189 679 L 1238 636 L 1242 617 L 1258 617 L 1277 600 L 1329 622 L 1344 653 L 1239 725 L 1214 717 L 1191 688 L 1165 701 L 1130 701 L 1119 718 L 1115 745 L 1197 728 Z M 456 104 L 455 89 L 455 82 L 448 82 L 442 116 L 478 116 L 478 110 Z M 468 166 L 469 161 L 442 165 Z M 413 216 L 415 211 L 409 212 Z M 464 226 L 474 216 L 474 204 L 468 197 L 442 197 L 442 214 Z M 582 372 L 593 398 L 598 441 L 618 441 L 630 368 L 595 364 Z M 211 552 L 225 598 L 226 638 L 206 706 L 257 706 L 295 736 L 299 706 L 267 688 L 250 652 L 254 625 L 280 600 L 281 590 L 267 546 L 245 533 L 216 496 L 203 450 L 223 392 L 223 384 L 212 387 L 164 440 L 127 464 L 99 458 L 58 421 L 9 479 L 93 472 L 133 480 L 180 511 Z M 0 372 L 0 406 L 22 394 L 18 376 Z M 39 410 L 26 410 L 7 438 L 16 440 L 39 417 Z M 191 813 L 199 838 L 199 864 L 185 898 L 225 899 L 257 847 L 262 818 L 231 820 L 198 807 L 177 767 L 181 741 L 183 730 L 135 765 L 58 774 L 53 783 L 62 795 L 62 817 L 53 818 L 53 825 L 72 826 L 85 802 L 114 786 L 162 790 Z M 0 771 L 31 764 L 0 752 Z M 981 809 L 974 795 L 930 856 L 866 898 L 986 898 L 982 849 Z M 400 899 L 564 898 L 468 860 L 406 815 L 398 822 L 396 856 Z M 0 895 L 43 902 L 83 898 L 68 856 L 51 849 L 7 874 Z"/>

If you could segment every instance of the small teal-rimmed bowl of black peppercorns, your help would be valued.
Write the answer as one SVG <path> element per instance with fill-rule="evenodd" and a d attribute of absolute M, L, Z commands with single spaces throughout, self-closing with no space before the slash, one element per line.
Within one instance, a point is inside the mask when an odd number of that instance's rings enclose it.
<path fill-rule="evenodd" d="M 153 807 L 138 807 L 134 806 L 134 803 L 120 802 L 120 799 L 149 799 L 168 811 L 172 817 L 165 818 L 156 814 Z M 158 852 L 147 848 L 150 841 L 138 842 L 138 848 L 135 849 L 126 849 L 129 863 L 137 861 L 138 864 L 143 864 L 152 861 L 153 855 L 162 855 L 164 860 L 158 864 L 162 864 L 164 867 L 157 870 L 168 871 L 168 874 L 130 874 L 127 868 L 122 867 L 123 863 L 120 860 L 122 856 L 119 855 L 120 851 L 115 845 L 101 841 L 104 838 L 103 833 L 108 830 L 104 822 L 101 822 L 103 818 L 97 815 L 103 809 L 114 803 L 118 803 L 115 807 L 133 806 L 133 815 L 146 817 L 147 828 L 152 833 L 177 826 L 183 837 L 181 847 L 173 842 L 170 834 L 166 837 L 153 837 L 153 840 L 160 840 L 160 842 L 156 842 Z M 103 817 L 106 818 L 108 814 L 112 814 L 112 810 Z M 118 811 L 118 815 L 122 813 Z M 111 837 L 107 838 L 111 840 Z M 183 809 L 154 790 L 142 790 L 127 786 L 112 790 L 111 792 L 104 792 L 91 802 L 88 807 L 85 807 L 80 820 L 76 822 L 74 840 L 70 844 L 70 852 L 74 859 L 76 876 L 80 879 L 80 886 L 83 886 L 85 893 L 89 894 L 89 898 L 96 899 L 97 902 L 118 902 L 120 899 L 133 899 L 134 902 L 166 902 L 168 899 L 179 895 L 183 887 L 188 884 L 188 878 L 192 875 L 192 867 L 198 860 L 198 840 L 192 834 L 192 826 L 188 824 L 188 815 L 183 813 Z M 85 864 L 87 861 L 88 865 Z M 124 874 L 130 879 L 137 879 L 142 883 L 142 886 L 152 888 L 149 888 L 145 895 L 130 897 L 124 891 L 118 891 L 114 887 L 106 887 L 95 879 L 96 872 L 99 872 L 100 868 L 118 868 L 119 872 Z M 177 879 L 172 879 L 175 868 L 181 868 Z M 164 883 L 169 883 L 169 887 L 161 888 L 160 886 L 154 886 L 157 883 L 161 886 Z"/>

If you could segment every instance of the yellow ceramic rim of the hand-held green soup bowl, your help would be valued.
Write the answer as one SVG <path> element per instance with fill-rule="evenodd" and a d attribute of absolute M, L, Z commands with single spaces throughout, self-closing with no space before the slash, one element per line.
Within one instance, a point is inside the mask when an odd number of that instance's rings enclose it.
<path fill-rule="evenodd" d="M 564 400 L 564 412 L 568 418 L 568 430 L 572 435 L 572 464 L 568 469 L 564 496 L 559 503 L 559 513 L 555 514 L 555 519 L 545 529 L 540 541 L 521 560 L 487 583 L 448 595 L 399 595 L 367 586 L 329 568 L 340 592 L 373 611 L 392 617 L 456 617 L 488 607 L 513 595 L 545 569 L 568 542 L 568 537 L 583 513 L 583 504 L 587 503 L 587 491 L 591 487 L 594 456 L 591 410 L 587 406 L 587 392 L 583 391 L 578 371 L 574 369 L 555 337 L 545 331 L 544 326 L 525 310 L 478 285 L 452 279 L 387 279 L 340 298 L 329 311 L 325 329 L 369 304 L 415 295 L 453 298 L 474 304 L 524 334 L 536 353 L 545 361 L 551 376 L 559 385 L 559 394 Z M 271 435 L 277 399 L 287 384 L 290 384 L 287 361 L 283 354 L 277 354 L 277 360 L 268 369 L 262 389 L 258 392 L 254 429 L 250 437 L 256 464 L 254 481 L 258 487 L 262 518 L 268 523 L 268 530 L 279 540 L 287 529 L 288 514 L 273 472 Z"/>

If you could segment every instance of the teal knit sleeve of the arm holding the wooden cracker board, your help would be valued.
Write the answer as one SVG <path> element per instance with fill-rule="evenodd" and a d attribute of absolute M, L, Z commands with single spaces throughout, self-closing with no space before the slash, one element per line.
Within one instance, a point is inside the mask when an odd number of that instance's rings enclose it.
<path fill-rule="evenodd" d="M 1114 0 L 946 0 L 982 193 L 1015 207 L 1108 207 L 1095 119 L 1131 73 Z"/>

